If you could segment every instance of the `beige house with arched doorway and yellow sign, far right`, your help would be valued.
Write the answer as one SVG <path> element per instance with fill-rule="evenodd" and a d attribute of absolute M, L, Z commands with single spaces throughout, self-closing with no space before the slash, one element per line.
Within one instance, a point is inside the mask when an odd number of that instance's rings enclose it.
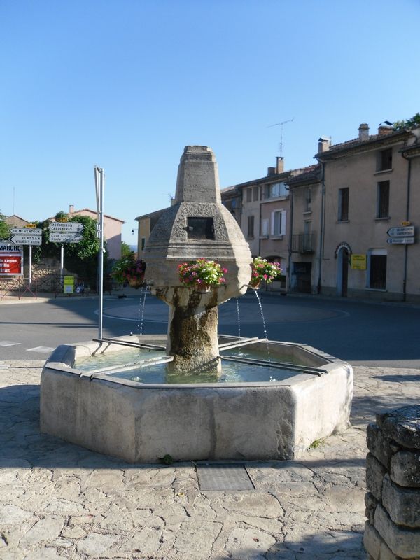
<path fill-rule="evenodd" d="M 420 127 L 362 123 L 358 138 L 319 148 L 321 292 L 420 301 Z"/>

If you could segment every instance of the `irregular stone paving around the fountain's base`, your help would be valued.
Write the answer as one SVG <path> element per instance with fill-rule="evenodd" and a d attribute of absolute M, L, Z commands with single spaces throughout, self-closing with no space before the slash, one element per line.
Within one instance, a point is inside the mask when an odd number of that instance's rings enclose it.
<path fill-rule="evenodd" d="M 246 463 L 254 491 L 203 492 L 193 463 L 130 465 L 41 435 L 41 367 L 0 362 L 2 560 L 364 559 L 366 425 L 420 397 L 420 370 L 356 367 L 349 430 L 299 461 Z"/>

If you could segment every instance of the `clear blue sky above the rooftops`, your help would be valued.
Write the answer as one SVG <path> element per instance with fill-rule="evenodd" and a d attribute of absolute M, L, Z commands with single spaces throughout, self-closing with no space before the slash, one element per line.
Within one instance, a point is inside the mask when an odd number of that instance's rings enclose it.
<path fill-rule="evenodd" d="M 0 0 L 0 211 L 104 209 L 134 242 L 184 146 L 221 186 L 420 111 L 419 0 Z"/>

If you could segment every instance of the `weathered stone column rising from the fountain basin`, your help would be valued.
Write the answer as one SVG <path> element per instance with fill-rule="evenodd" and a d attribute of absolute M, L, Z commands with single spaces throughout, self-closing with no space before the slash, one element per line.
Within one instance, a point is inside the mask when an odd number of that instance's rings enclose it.
<path fill-rule="evenodd" d="M 218 369 L 218 305 L 244 294 L 251 278 L 251 252 L 232 214 L 221 203 L 218 167 L 207 146 L 186 146 L 176 196 L 144 250 L 146 281 L 169 304 L 167 353 L 176 372 Z M 181 284 L 181 262 L 207 258 L 228 269 L 226 283 L 200 293 Z"/>

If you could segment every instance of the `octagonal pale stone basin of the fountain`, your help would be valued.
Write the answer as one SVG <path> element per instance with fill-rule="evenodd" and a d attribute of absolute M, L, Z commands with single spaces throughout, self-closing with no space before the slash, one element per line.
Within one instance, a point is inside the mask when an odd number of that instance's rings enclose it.
<path fill-rule="evenodd" d="M 140 342 L 165 349 L 166 335 L 58 346 L 41 375 L 41 431 L 130 463 L 157 463 L 167 454 L 174 461 L 298 458 L 349 427 L 351 366 L 303 344 L 243 341 L 275 362 L 293 358 L 301 370 L 279 381 L 146 384 L 75 365 L 98 354 L 123 358 L 125 344 Z M 238 342 L 220 336 L 221 354 Z"/>

